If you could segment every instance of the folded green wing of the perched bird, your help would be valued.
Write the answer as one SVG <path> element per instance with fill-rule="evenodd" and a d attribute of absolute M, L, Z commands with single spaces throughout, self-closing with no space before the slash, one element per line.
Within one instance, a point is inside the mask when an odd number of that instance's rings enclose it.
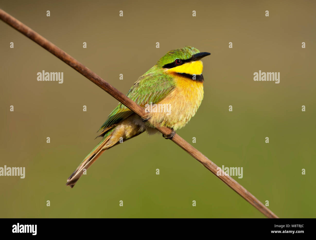
<path fill-rule="evenodd" d="M 142 107 L 150 102 L 153 104 L 159 102 L 174 88 L 173 79 L 170 76 L 164 73 L 150 73 L 149 71 L 138 78 L 126 95 Z M 131 114 L 133 111 L 119 103 L 100 128 L 105 129 L 102 135 L 106 133 L 106 129 L 110 130 L 111 126 L 120 123 Z"/>

